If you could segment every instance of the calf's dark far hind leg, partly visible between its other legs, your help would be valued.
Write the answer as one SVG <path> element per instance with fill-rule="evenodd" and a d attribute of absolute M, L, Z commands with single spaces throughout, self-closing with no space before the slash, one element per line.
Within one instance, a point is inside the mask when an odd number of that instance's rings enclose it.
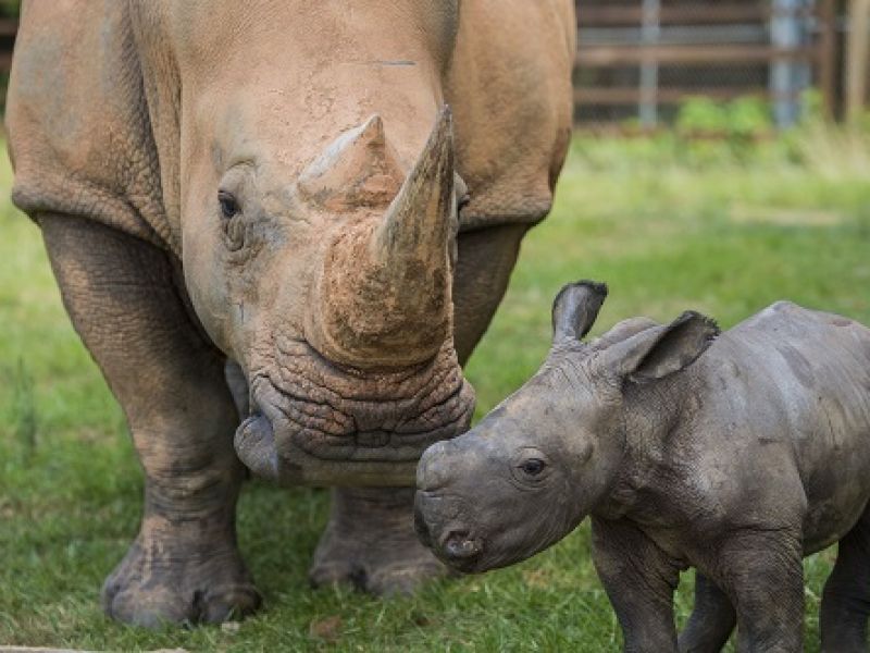
<path fill-rule="evenodd" d="M 695 609 L 680 634 L 680 653 L 717 653 L 731 637 L 737 614 L 716 583 L 700 572 L 695 574 Z"/>

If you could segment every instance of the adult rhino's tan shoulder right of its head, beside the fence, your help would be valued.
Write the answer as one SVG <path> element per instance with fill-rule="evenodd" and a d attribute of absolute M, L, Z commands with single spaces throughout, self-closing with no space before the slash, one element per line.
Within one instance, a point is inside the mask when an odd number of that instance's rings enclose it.
<path fill-rule="evenodd" d="M 571 139 L 572 0 L 463 0 L 446 96 L 471 201 L 460 227 L 534 224 Z"/>

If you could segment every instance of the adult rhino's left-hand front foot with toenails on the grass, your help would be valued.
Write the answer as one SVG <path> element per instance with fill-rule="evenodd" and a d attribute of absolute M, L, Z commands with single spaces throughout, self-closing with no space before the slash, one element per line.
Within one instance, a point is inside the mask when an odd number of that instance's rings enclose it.
<path fill-rule="evenodd" d="M 260 593 L 235 546 L 208 543 L 197 551 L 141 534 L 109 576 L 102 606 L 113 619 L 160 628 L 167 624 L 220 624 L 254 612 Z"/>

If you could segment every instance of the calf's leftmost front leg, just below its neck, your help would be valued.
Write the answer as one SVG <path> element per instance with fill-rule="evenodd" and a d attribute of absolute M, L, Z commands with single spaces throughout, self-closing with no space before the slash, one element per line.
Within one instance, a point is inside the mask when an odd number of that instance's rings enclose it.
<path fill-rule="evenodd" d="M 680 571 L 625 520 L 593 519 L 593 560 L 613 604 L 626 653 L 676 651 L 673 592 Z"/>

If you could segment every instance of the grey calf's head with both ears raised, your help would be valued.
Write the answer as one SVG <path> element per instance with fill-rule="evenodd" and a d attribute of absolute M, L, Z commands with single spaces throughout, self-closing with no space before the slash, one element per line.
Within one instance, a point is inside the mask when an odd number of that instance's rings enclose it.
<path fill-rule="evenodd" d="M 643 390 L 685 369 L 718 334 L 686 312 L 667 325 L 626 320 L 584 343 L 606 296 L 594 282 L 566 286 L 538 372 L 474 429 L 423 454 L 418 534 L 448 565 L 507 566 L 571 532 L 630 466 L 631 424 L 661 426 L 650 418 L 655 391 Z"/>

